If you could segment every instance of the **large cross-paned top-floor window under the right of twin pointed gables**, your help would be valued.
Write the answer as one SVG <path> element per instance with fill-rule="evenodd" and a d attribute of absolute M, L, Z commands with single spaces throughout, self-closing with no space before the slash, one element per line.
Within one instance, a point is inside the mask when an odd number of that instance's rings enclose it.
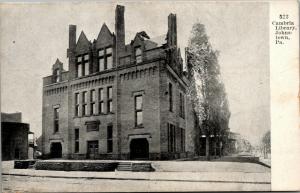
<path fill-rule="evenodd" d="M 113 67 L 112 48 L 108 47 L 98 51 L 98 69 L 99 71 L 109 70 Z"/>

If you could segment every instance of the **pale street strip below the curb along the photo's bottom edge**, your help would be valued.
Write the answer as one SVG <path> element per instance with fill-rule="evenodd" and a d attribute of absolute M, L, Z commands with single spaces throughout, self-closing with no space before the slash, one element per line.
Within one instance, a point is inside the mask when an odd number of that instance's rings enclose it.
<path fill-rule="evenodd" d="M 270 184 L 201 182 L 201 181 L 149 181 L 114 179 L 68 179 L 4 175 L 3 192 L 119 192 L 119 191 L 268 191 Z"/>

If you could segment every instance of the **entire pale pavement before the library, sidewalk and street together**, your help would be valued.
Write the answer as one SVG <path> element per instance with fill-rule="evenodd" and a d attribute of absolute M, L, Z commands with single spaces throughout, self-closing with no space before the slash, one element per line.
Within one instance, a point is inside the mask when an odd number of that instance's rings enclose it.
<path fill-rule="evenodd" d="M 35 188 L 38 191 L 52 191 L 49 189 L 49 181 L 54 184 L 61 184 L 61 188 L 67 188 L 71 184 L 86 185 L 91 183 L 95 188 L 100 184 L 115 182 L 120 186 L 101 191 L 143 191 L 143 190 L 173 190 L 163 187 L 163 184 L 173 184 L 173 188 L 180 191 L 197 190 L 270 190 L 271 172 L 270 168 L 254 163 L 238 162 L 206 162 L 206 161 L 156 161 L 152 162 L 155 172 L 86 172 L 86 171 L 49 171 L 34 169 L 14 169 L 13 162 L 2 163 L 2 179 L 6 190 L 30 190 Z M 45 179 L 48 179 L 45 180 Z M 88 181 L 86 181 L 88 180 Z M 30 183 L 28 183 L 30 181 Z M 27 183 L 26 183 L 27 182 Z M 65 183 L 62 183 L 65 182 Z M 36 185 L 40 189 L 36 189 Z M 132 184 L 133 187 L 127 187 Z M 151 185 L 152 184 L 152 185 Z M 181 184 L 181 185 L 180 185 Z M 200 186 L 201 184 L 201 186 Z M 143 189 L 140 186 L 147 186 Z M 162 186 L 156 189 L 149 186 Z M 28 186 L 28 187 L 27 187 Z M 34 186 L 34 187 L 32 187 Z M 48 189 L 47 189 L 48 187 Z M 122 188 L 126 187 L 126 189 Z M 223 189 L 221 189 L 223 187 Z M 74 187 L 73 187 L 74 188 Z M 86 187 L 83 191 L 92 191 Z M 149 189 L 150 188 L 150 189 Z M 57 189 L 65 191 L 68 189 Z M 99 189 L 96 189 L 99 191 Z M 173 190 L 173 191 L 176 191 Z M 56 191 L 56 190 L 55 190 Z"/>

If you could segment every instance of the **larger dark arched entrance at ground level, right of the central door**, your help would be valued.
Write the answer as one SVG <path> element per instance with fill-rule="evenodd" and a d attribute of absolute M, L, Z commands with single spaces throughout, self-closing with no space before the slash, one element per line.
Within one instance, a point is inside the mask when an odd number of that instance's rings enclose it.
<path fill-rule="evenodd" d="M 149 159 L 149 143 L 146 138 L 132 139 L 130 142 L 130 159 Z"/>

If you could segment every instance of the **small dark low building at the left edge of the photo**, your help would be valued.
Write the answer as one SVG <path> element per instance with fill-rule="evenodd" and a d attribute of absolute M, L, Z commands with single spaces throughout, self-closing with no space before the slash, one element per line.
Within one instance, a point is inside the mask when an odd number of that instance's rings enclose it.
<path fill-rule="evenodd" d="M 22 114 L 1 113 L 2 160 L 28 159 L 29 124 Z"/>

